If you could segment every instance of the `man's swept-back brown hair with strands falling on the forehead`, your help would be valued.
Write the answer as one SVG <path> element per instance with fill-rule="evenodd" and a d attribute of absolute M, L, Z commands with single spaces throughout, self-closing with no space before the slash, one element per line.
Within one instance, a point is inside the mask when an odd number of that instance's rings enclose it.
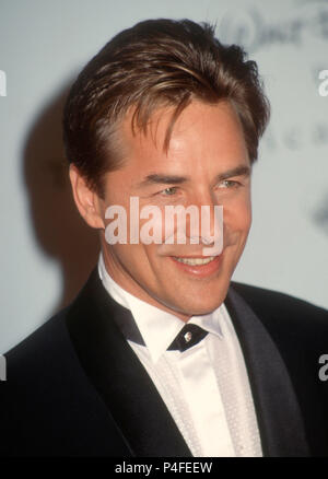
<path fill-rule="evenodd" d="M 230 101 L 243 127 L 250 162 L 269 120 L 269 103 L 255 61 L 223 45 L 214 27 L 190 20 L 148 20 L 108 42 L 85 66 L 63 113 L 67 156 L 102 194 L 102 177 L 122 163 L 119 126 L 133 107 L 131 128 L 145 132 L 153 112 L 173 106 L 164 148 L 176 119 L 192 101 Z"/>

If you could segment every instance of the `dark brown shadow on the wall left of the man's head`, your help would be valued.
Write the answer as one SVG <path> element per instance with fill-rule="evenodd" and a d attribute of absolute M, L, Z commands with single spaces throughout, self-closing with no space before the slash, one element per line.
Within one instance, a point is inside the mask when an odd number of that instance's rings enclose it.
<path fill-rule="evenodd" d="M 57 260 L 65 307 L 84 284 L 98 255 L 97 232 L 89 227 L 73 202 L 63 153 L 61 116 L 69 87 L 40 113 L 27 133 L 24 180 L 35 238 L 45 255 Z"/>

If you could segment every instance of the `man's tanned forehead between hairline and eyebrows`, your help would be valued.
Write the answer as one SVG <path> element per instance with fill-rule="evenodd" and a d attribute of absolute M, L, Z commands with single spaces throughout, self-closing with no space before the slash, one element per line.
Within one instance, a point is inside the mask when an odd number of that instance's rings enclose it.
<path fill-rule="evenodd" d="M 210 157 L 248 157 L 243 128 L 230 102 L 212 105 L 194 101 L 172 128 L 174 112 L 174 107 L 156 109 L 144 129 L 133 128 L 133 110 L 128 113 L 120 130 L 128 163 L 138 163 L 143 170 L 154 164 L 192 164 L 197 159 L 206 162 Z"/>

